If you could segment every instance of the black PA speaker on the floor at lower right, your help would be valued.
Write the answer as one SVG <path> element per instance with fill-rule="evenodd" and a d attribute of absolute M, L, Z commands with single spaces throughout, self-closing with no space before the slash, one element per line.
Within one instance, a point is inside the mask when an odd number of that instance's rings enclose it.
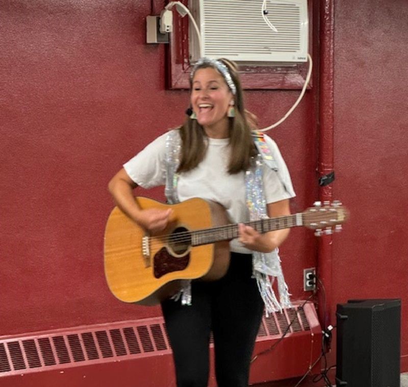
<path fill-rule="evenodd" d="M 337 305 L 336 386 L 400 387 L 401 300 Z"/>

